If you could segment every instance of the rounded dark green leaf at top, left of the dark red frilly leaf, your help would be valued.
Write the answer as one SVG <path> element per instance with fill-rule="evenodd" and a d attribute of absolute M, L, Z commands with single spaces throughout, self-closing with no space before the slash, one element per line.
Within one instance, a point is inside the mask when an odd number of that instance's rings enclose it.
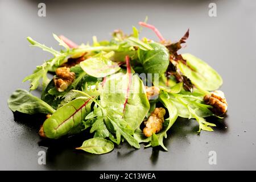
<path fill-rule="evenodd" d="M 166 72 L 169 65 L 169 52 L 168 49 L 159 43 L 150 43 L 154 50 L 143 51 L 138 49 L 139 61 L 143 65 L 146 73 L 159 73 Z"/>

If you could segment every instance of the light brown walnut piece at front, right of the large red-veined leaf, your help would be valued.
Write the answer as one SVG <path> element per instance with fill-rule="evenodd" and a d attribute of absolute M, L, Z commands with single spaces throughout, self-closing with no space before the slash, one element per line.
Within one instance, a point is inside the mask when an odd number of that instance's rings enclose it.
<path fill-rule="evenodd" d="M 164 114 L 166 110 L 162 107 L 155 108 L 155 110 L 150 114 L 147 121 L 144 122 L 146 127 L 143 129 L 143 133 L 146 137 L 150 137 L 153 133 L 158 133 L 163 128 Z"/>

